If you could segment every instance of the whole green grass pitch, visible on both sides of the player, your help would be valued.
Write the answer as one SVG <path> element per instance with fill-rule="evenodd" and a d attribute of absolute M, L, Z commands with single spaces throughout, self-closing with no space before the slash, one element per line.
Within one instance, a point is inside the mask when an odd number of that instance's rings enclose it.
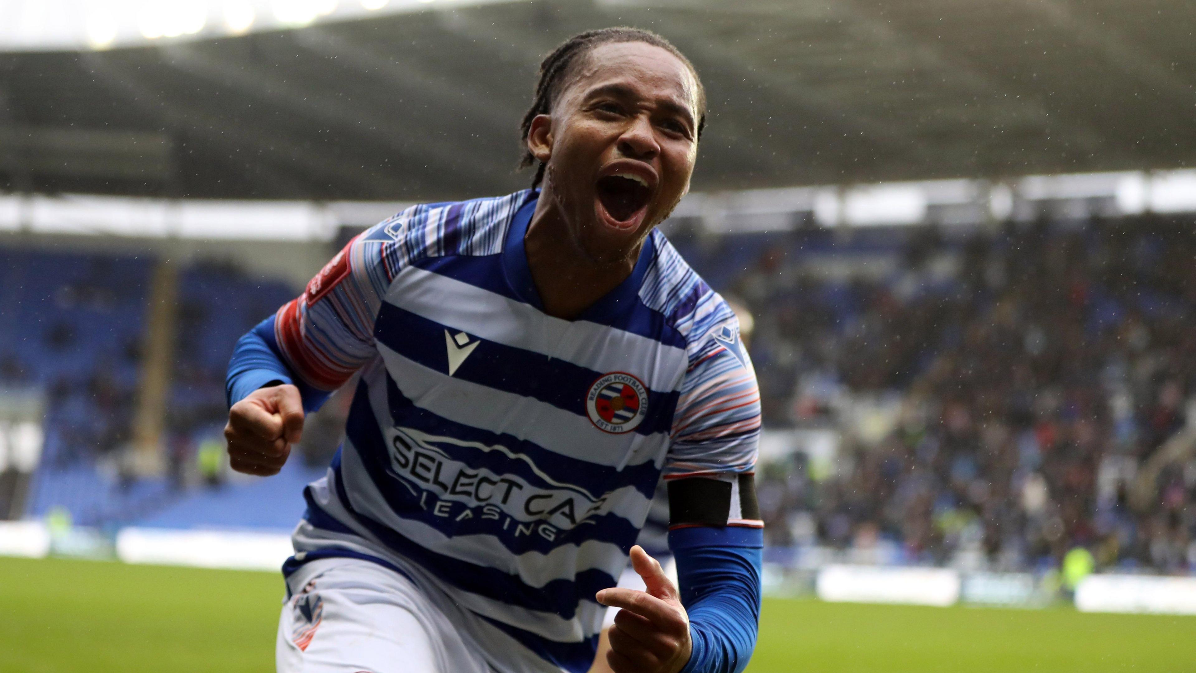
<path fill-rule="evenodd" d="M 0 673 L 270 673 L 282 581 L 0 558 Z M 1196 669 L 1196 618 L 768 600 L 750 673 Z"/>

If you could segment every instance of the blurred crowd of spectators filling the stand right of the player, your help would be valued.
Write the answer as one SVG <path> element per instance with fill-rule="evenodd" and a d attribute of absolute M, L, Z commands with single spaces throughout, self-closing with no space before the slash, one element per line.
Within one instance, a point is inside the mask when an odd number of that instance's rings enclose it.
<path fill-rule="evenodd" d="M 1196 393 L 1190 220 L 921 228 L 892 268 L 840 279 L 803 271 L 808 243 L 770 247 L 732 286 L 756 319 L 765 426 L 841 430 L 829 474 L 803 453 L 764 466 L 771 544 L 991 569 L 1084 547 L 1103 568 L 1196 570 L 1191 454 L 1130 497 Z"/>

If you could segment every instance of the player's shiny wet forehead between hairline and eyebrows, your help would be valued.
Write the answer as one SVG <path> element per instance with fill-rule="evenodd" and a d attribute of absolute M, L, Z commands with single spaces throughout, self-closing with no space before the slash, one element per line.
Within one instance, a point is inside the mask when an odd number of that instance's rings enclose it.
<path fill-rule="evenodd" d="M 648 98 L 666 98 L 697 109 L 697 80 L 689 67 L 667 49 L 646 42 L 608 42 L 586 54 L 570 78 L 569 89 L 586 91 L 623 84 Z"/>

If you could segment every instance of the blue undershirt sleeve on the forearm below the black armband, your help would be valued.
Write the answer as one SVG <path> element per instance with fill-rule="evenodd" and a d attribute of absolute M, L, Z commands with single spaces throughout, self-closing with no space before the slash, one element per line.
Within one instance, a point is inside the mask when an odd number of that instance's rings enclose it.
<path fill-rule="evenodd" d="M 694 653 L 682 673 L 739 673 L 756 649 L 764 532 L 695 526 L 669 532 Z"/>

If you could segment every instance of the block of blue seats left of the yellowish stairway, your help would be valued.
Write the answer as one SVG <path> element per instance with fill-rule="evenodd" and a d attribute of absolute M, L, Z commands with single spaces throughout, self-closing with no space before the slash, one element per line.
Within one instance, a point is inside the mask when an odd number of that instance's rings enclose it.
<path fill-rule="evenodd" d="M 0 381 L 45 392 L 41 469 L 30 513 L 66 508 L 98 523 L 153 498 L 118 461 L 129 441 L 151 262 L 111 255 L 0 250 Z"/>

